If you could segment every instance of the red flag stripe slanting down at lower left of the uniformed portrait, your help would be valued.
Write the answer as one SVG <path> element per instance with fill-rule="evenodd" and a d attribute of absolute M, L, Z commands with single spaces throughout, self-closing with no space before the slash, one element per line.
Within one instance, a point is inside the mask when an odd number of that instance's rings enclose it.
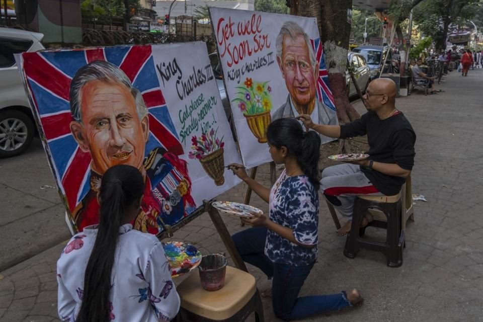
<path fill-rule="evenodd" d="M 65 196 L 67 197 L 67 203 L 71 212 L 77 205 L 77 194 L 82 189 L 81 184 L 86 175 L 86 171 L 89 170 L 91 159 L 91 153 L 83 152 L 77 148 L 72 162 L 62 178 L 62 186 L 64 187 Z"/>

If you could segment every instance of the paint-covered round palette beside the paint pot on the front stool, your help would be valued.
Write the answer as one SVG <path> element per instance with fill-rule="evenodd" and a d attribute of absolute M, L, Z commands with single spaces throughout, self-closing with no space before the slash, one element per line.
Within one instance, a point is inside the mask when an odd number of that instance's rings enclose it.
<path fill-rule="evenodd" d="M 201 252 L 193 245 L 182 241 L 168 241 L 162 244 L 172 277 L 184 275 L 200 265 Z"/>

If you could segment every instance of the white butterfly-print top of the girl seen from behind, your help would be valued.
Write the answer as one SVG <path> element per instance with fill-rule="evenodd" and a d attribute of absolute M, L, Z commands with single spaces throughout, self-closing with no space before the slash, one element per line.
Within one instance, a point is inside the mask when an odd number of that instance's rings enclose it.
<path fill-rule="evenodd" d="M 84 296 L 84 275 L 97 235 L 96 226 L 73 236 L 57 261 L 58 313 L 75 321 Z M 163 246 L 152 234 L 123 225 L 111 273 L 109 319 L 170 321 L 178 313 L 180 297 Z"/>

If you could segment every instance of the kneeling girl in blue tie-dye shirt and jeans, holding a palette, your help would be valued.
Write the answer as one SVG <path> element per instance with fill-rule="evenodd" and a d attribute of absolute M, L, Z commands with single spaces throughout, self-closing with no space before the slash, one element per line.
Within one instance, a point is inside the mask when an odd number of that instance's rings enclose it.
<path fill-rule="evenodd" d="M 357 290 L 298 297 L 317 259 L 320 137 L 304 132 L 294 118 L 273 121 L 267 129 L 269 152 L 282 172 L 272 189 L 250 178 L 242 165 L 229 168 L 269 203 L 269 217 L 253 213 L 241 220 L 252 228 L 232 236 L 245 262 L 272 281 L 272 306 L 283 320 L 306 318 L 361 303 Z M 264 291 L 263 295 L 269 295 Z"/>

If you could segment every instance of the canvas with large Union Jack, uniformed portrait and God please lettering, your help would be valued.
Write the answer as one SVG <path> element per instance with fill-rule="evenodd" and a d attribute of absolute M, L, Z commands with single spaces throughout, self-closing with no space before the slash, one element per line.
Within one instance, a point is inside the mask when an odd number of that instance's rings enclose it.
<path fill-rule="evenodd" d="M 73 231 L 98 222 L 114 165 L 143 173 L 133 226 L 151 233 L 239 183 L 205 43 L 29 52 L 19 65 Z"/>

